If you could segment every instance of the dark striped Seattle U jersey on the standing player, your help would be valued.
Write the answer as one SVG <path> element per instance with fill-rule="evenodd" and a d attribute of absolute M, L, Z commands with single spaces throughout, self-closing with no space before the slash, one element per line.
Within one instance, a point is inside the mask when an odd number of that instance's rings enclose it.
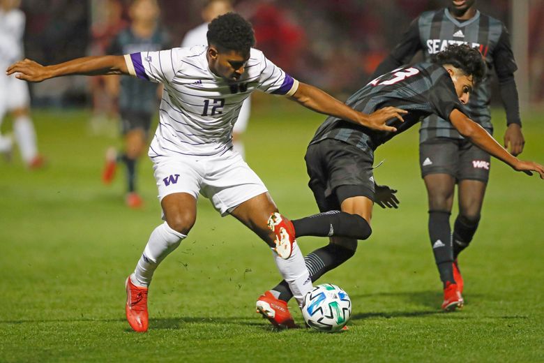
<path fill-rule="evenodd" d="M 461 43 L 477 47 L 488 66 L 488 76 L 471 93 L 467 110 L 471 119 L 492 132 L 489 110 L 490 70 L 494 68 L 500 80 L 517 69 L 508 31 L 499 20 L 477 11 L 471 19 L 460 22 L 447 8 L 422 13 L 411 23 L 391 53 L 391 57 L 398 62 L 393 67 L 407 64 L 418 50 L 422 50 L 425 60 L 429 61 L 432 54 L 444 50 L 449 44 Z M 382 64 L 375 75 L 390 71 L 393 67 L 391 64 Z M 448 121 L 433 114 L 421 124 L 420 142 L 435 137 L 462 138 Z"/>

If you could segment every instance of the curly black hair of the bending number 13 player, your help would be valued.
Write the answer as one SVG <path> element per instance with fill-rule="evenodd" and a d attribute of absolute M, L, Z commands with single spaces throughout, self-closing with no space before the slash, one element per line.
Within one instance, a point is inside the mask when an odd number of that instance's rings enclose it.
<path fill-rule="evenodd" d="M 459 68 L 465 75 L 471 75 L 474 84 L 477 84 L 485 77 L 485 62 L 482 54 L 476 48 L 467 44 L 451 44 L 445 50 L 432 56 L 432 62 L 451 64 Z"/>

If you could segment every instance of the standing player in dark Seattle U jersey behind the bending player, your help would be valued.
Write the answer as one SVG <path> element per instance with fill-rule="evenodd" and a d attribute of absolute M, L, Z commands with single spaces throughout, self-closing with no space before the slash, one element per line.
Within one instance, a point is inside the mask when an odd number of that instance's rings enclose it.
<path fill-rule="evenodd" d="M 450 6 L 421 14 L 414 20 L 391 55 L 377 68 L 372 78 L 407 64 L 421 50 L 429 60 L 448 44 L 466 43 L 478 49 L 486 65 L 486 75 L 474 89 L 467 105 L 469 117 L 492 134 L 489 110 L 490 70 L 499 79 L 501 98 L 508 128 L 504 146 L 520 154 L 524 146 L 521 132 L 514 71 L 517 66 L 508 31 L 499 20 L 476 10 L 475 0 L 450 1 Z M 458 255 L 466 249 L 480 221 L 483 196 L 490 172 L 490 155 L 469 142 L 446 121 L 432 114 L 420 129 L 419 165 L 429 200 L 429 235 L 432 252 L 444 288 L 456 283 L 463 290 Z M 455 184 L 458 184 L 459 214 L 453 236 L 450 226 Z"/>

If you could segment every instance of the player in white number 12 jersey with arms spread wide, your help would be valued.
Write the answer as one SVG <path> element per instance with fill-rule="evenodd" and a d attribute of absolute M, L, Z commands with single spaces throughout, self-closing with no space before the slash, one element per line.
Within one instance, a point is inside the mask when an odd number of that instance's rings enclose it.
<path fill-rule="evenodd" d="M 381 131 L 395 131 L 385 122 L 402 120 L 406 113 L 383 108 L 363 114 L 294 80 L 252 48 L 251 24 L 235 13 L 214 19 L 207 38 L 207 47 L 84 57 L 52 66 L 25 59 L 7 70 L 31 82 L 61 75 L 123 74 L 164 85 L 149 157 L 165 223 L 151 232 L 135 271 L 126 279 L 126 317 L 137 332 L 148 328 L 147 294 L 153 272 L 194 225 L 199 193 L 222 216 L 231 214 L 269 244 L 299 304 L 312 288 L 294 231 L 278 213 L 261 179 L 232 150 L 232 125 L 252 91 L 287 96 L 310 110 Z"/>

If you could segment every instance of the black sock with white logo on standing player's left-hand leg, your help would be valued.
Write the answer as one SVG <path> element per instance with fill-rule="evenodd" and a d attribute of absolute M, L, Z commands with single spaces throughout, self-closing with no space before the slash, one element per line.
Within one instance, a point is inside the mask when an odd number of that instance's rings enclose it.
<path fill-rule="evenodd" d="M 435 255 L 440 280 L 453 283 L 453 247 L 451 245 L 450 213 L 429 212 L 429 237 L 432 253 Z"/>

